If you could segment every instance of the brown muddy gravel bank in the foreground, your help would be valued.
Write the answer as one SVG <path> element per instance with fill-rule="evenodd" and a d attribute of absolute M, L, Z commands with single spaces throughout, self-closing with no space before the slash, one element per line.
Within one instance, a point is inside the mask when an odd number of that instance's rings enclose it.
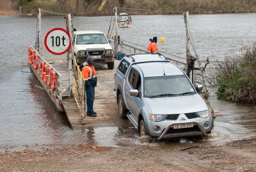
<path fill-rule="evenodd" d="M 35 150 L 28 146 L 21 152 L 6 149 L 0 154 L 0 171 L 256 170 L 256 137 L 223 145 L 180 144 L 172 149 L 84 144 L 50 147 Z"/>

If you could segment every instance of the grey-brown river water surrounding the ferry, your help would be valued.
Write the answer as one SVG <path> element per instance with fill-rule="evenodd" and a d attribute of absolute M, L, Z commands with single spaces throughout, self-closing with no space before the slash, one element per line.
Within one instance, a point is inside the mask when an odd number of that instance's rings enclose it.
<path fill-rule="evenodd" d="M 165 42 L 157 43 L 159 51 L 184 60 L 186 32 L 182 15 L 131 17 L 131 28 L 118 29 L 121 40 L 147 47 L 149 38 L 164 37 Z M 256 13 L 190 15 L 189 27 L 200 59 L 223 59 L 232 51 L 238 53 L 241 47 L 251 46 L 256 40 L 255 17 Z M 135 145 L 152 144 L 141 141 L 132 127 L 96 128 L 93 132 L 91 129 L 70 129 L 65 114 L 57 113 L 44 91 L 35 87 L 37 81 L 28 68 L 28 47 L 35 45 L 36 21 L 35 17 L 0 16 L 0 148 L 77 143 L 122 146 L 127 141 Z M 75 17 L 74 26 L 77 30 L 98 29 L 108 33 L 110 21 L 109 16 Z M 63 17 L 42 17 L 42 23 L 44 35 L 54 27 L 65 28 Z M 111 29 L 109 33 L 115 33 L 115 27 L 113 31 Z M 252 122 L 255 121 L 255 113 L 248 113 L 251 106 L 211 99 L 223 116 L 216 119 L 210 140 L 255 136 Z M 240 118 L 241 114 L 243 118 Z M 239 132 L 234 132 L 234 127 Z M 120 130 L 126 132 L 123 136 L 116 136 Z M 186 142 L 186 139 L 179 142 Z"/>

